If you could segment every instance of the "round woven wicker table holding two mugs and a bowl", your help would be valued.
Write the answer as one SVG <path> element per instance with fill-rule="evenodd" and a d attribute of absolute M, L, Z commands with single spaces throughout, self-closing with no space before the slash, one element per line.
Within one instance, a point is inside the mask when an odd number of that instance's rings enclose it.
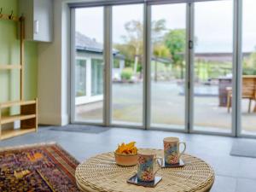
<path fill-rule="evenodd" d="M 163 150 L 150 149 L 163 156 Z M 137 172 L 137 166 L 117 166 L 113 153 L 99 154 L 81 163 L 75 172 L 76 182 L 84 192 L 203 192 L 214 182 L 212 167 L 203 160 L 183 154 L 185 166 L 162 168 L 157 175 L 162 181 L 154 188 L 126 183 Z"/>

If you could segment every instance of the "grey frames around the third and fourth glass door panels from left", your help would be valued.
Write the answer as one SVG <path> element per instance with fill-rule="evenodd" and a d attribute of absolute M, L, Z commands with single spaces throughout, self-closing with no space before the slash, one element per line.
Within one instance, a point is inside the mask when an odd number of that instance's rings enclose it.
<path fill-rule="evenodd" d="M 211 0 L 208 0 L 211 1 Z M 212 0 L 212 1 L 221 1 L 221 0 Z M 237 88 L 239 82 L 237 77 L 238 74 L 238 66 L 239 66 L 239 57 L 236 57 L 236 53 L 238 53 L 239 48 L 238 48 L 238 43 L 237 43 L 237 38 L 239 34 L 236 34 L 237 32 L 237 27 L 239 26 L 238 22 L 238 16 L 236 15 L 238 11 L 238 1 L 240 0 L 231 0 L 234 2 L 234 10 L 233 10 L 233 83 L 232 83 L 232 89 L 235 90 L 237 93 Z M 207 2 L 207 1 L 198 1 L 198 2 Z M 152 3 L 152 4 L 147 4 L 148 6 L 148 32 L 150 32 L 150 24 L 151 24 L 151 6 L 152 5 L 159 5 L 159 4 L 175 4 L 175 3 L 186 3 L 186 1 L 180 1 L 180 2 L 173 2 L 173 1 L 163 1 L 157 2 L 157 3 Z M 188 132 L 188 133 L 199 133 L 199 134 L 207 134 L 207 135 L 221 135 L 221 136 L 231 136 L 231 137 L 236 137 L 237 136 L 237 127 L 238 123 L 240 122 L 238 118 L 238 112 L 237 109 L 239 110 L 238 107 L 238 100 L 236 99 L 238 95 L 236 94 L 235 96 L 232 97 L 232 103 L 233 103 L 233 110 L 232 110 L 232 123 L 231 123 L 231 131 L 230 133 L 223 133 L 223 132 L 217 132 L 217 131 L 196 131 L 195 126 L 194 126 L 194 57 L 195 57 L 195 49 L 193 46 L 193 43 L 195 42 L 195 3 L 186 3 L 187 4 L 187 13 L 186 13 L 186 53 L 185 53 L 185 61 L 186 61 L 186 77 L 185 77 L 185 129 L 180 130 L 180 129 L 171 129 L 171 128 L 161 128 L 161 127 L 154 127 L 150 126 L 150 118 L 151 118 L 151 113 L 150 113 L 150 97 L 151 97 L 151 92 L 150 92 L 150 82 L 151 79 L 147 79 L 147 95 L 146 96 L 146 101 L 147 101 L 147 126 L 146 129 L 150 130 L 164 130 L 164 131 L 177 131 L 177 132 Z M 147 35 L 148 37 L 148 46 L 151 48 L 151 36 L 150 34 Z M 191 46 L 192 45 L 192 46 Z M 148 50 L 148 55 L 147 55 L 147 70 L 148 74 L 150 74 L 150 58 L 151 58 L 151 50 Z M 236 89 L 237 88 L 237 89 Z M 234 111 L 236 113 L 234 113 Z"/>

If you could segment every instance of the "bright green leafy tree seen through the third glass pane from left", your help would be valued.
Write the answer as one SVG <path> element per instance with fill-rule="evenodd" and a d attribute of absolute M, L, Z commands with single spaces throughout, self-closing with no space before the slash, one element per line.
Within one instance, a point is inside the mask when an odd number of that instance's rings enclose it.
<path fill-rule="evenodd" d="M 185 29 L 174 29 L 166 33 L 165 44 L 172 56 L 175 67 L 181 70 L 180 78 L 183 79 L 183 60 L 186 48 L 186 31 Z"/>

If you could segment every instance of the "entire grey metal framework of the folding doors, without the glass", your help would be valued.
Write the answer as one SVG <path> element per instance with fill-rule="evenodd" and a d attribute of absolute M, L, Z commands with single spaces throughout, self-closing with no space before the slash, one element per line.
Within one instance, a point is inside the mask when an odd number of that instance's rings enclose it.
<path fill-rule="evenodd" d="M 221 0 L 205 0 L 207 1 L 221 1 Z M 223 135 L 230 137 L 256 137 L 254 135 L 243 134 L 241 131 L 241 63 L 242 63 L 242 53 L 241 53 L 241 17 L 242 17 L 242 0 L 231 0 L 234 3 L 233 9 L 233 80 L 232 89 L 236 94 L 232 97 L 232 126 L 230 133 L 221 133 L 213 131 L 196 131 L 194 129 L 194 48 L 189 47 L 190 42 L 194 41 L 194 29 L 195 29 L 195 3 L 191 3 L 190 0 L 183 1 L 173 1 L 173 0 L 163 0 L 154 3 L 141 3 L 144 6 L 143 13 L 143 125 L 114 125 L 112 123 L 112 65 L 113 65 L 113 55 L 112 55 L 112 7 L 114 5 L 101 5 L 104 9 L 104 104 L 103 104 L 103 122 L 93 123 L 93 122 L 78 122 L 74 120 L 74 103 L 75 103 L 75 88 L 74 84 L 74 29 L 75 29 L 75 18 L 74 9 L 71 9 L 71 123 L 76 124 L 86 124 L 86 125 L 105 125 L 113 127 L 129 127 L 145 130 L 164 130 L 164 131 L 177 131 L 177 132 L 188 132 L 188 133 L 200 133 L 207 135 Z M 189 3 L 188 3 L 189 2 Z M 203 2 L 200 0 L 198 2 Z M 172 3 L 186 3 L 186 79 L 185 79 L 185 129 L 163 129 L 161 127 L 151 126 L 151 77 L 150 77 L 150 61 L 151 61 L 151 8 L 155 4 L 172 4 Z M 86 4 L 86 3 L 85 3 Z M 125 4 L 125 3 L 124 3 Z M 126 3 L 127 4 L 127 3 Z M 96 5 L 99 6 L 99 5 Z M 96 7 L 95 6 L 95 7 Z M 84 7 L 84 6 L 83 6 Z M 93 7 L 89 3 L 89 7 Z"/>

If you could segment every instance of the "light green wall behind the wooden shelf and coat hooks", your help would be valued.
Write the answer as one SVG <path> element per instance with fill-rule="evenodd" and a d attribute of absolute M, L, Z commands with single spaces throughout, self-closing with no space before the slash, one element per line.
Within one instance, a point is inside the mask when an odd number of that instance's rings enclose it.
<path fill-rule="evenodd" d="M 1 0 L 3 14 L 18 15 L 18 0 Z M 17 24 L 9 20 L 0 20 L 0 65 L 20 63 L 20 41 Z M 34 99 L 38 95 L 38 44 L 25 43 L 24 97 Z M 19 70 L 0 71 L 0 102 L 20 99 Z"/>

